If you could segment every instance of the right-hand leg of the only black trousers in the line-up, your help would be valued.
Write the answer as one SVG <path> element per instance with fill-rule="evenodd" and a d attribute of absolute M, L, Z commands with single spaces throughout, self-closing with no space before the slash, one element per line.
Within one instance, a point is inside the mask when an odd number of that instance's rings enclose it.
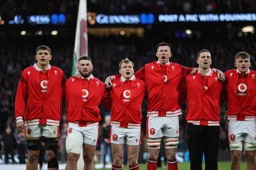
<path fill-rule="evenodd" d="M 220 143 L 220 126 L 204 126 L 205 170 L 218 170 L 218 149 Z"/>

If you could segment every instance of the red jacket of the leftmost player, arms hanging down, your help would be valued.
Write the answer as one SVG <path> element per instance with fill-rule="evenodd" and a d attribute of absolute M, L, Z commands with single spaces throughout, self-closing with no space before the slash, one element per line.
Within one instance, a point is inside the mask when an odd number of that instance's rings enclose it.
<path fill-rule="evenodd" d="M 20 77 L 15 99 L 15 118 L 25 119 L 25 125 L 47 124 L 59 126 L 62 97 L 65 98 L 66 78 L 62 70 L 49 65 L 47 92 L 41 97 L 39 71 L 36 64 L 26 68 Z"/>

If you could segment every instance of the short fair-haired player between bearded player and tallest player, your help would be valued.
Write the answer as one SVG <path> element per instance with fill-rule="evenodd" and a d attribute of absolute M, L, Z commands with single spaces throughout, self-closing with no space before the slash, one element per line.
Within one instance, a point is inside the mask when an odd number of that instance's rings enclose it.
<path fill-rule="evenodd" d="M 124 145 L 128 152 L 130 170 L 139 170 L 141 105 L 146 92 L 145 81 L 134 76 L 134 64 L 128 59 L 119 63 L 121 77 L 112 80 L 111 132 L 110 140 L 113 152 L 112 170 L 121 170 L 124 157 Z M 105 106 L 105 104 L 103 103 Z"/>

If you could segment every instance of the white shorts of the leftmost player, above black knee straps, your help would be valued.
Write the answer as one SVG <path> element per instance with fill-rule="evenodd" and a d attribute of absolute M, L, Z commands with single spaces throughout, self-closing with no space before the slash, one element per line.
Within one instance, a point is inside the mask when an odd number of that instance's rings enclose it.
<path fill-rule="evenodd" d="M 57 125 L 27 125 L 25 136 L 29 138 L 37 138 L 45 136 L 48 138 L 57 138 L 59 134 L 59 126 Z"/>

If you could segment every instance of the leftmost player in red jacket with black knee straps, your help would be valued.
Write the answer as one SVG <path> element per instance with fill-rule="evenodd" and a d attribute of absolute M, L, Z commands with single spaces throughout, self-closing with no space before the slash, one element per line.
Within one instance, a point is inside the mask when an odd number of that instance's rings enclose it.
<path fill-rule="evenodd" d="M 18 84 L 15 99 L 16 128 L 25 132 L 27 170 L 38 169 L 41 138 L 45 143 L 48 168 L 58 170 L 59 123 L 66 78 L 62 70 L 49 64 L 52 59 L 49 47 L 39 46 L 35 57 L 38 62 L 23 71 Z"/>

